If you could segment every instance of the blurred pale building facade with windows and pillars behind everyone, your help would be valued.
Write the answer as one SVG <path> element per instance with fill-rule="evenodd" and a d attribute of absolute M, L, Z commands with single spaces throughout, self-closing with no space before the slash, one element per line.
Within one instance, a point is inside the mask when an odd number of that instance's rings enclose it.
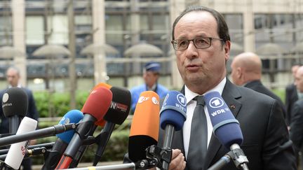
<path fill-rule="evenodd" d="M 0 87 L 15 64 L 32 90 L 130 88 L 142 83 L 146 62 L 158 61 L 161 84 L 179 89 L 171 25 L 191 5 L 224 15 L 231 59 L 243 51 L 262 56 L 268 87 L 284 88 L 291 65 L 303 64 L 303 0 L 1 0 Z"/>

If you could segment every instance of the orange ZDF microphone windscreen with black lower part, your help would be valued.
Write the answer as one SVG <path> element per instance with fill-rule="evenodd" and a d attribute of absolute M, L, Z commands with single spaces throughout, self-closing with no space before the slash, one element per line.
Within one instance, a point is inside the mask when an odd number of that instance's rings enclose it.
<path fill-rule="evenodd" d="M 159 110 L 158 94 L 152 91 L 140 94 L 128 139 L 128 156 L 132 162 L 147 159 L 145 149 L 158 143 Z"/>

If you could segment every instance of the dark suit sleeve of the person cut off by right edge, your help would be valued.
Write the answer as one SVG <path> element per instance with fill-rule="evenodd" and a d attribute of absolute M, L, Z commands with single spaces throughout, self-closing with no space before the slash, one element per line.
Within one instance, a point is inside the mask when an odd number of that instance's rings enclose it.
<path fill-rule="evenodd" d="M 295 149 L 298 150 L 302 146 L 303 140 L 303 108 L 297 102 L 292 110 L 292 123 L 290 124 L 290 139 L 292 140 Z"/>

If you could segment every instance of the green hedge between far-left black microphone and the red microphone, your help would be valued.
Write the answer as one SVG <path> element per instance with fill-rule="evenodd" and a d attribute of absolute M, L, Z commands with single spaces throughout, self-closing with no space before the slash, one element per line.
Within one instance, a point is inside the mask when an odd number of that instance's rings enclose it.
<path fill-rule="evenodd" d="M 81 110 L 89 92 L 76 92 L 76 109 Z M 61 117 L 70 111 L 69 93 L 34 92 L 40 118 Z"/>

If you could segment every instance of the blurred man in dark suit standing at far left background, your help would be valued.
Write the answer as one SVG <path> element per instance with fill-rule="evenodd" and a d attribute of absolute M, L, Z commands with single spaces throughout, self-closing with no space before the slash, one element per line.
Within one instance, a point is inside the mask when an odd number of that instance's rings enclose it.
<path fill-rule="evenodd" d="M 10 87 L 20 87 L 23 90 L 25 90 L 25 92 L 27 93 L 27 97 L 28 97 L 28 107 L 27 107 L 27 114 L 26 116 L 29 118 L 33 118 L 34 120 L 38 120 L 39 118 L 39 113 L 36 110 L 36 104 L 34 101 L 34 96 L 32 94 L 32 91 L 22 87 L 19 83 L 19 79 L 20 79 L 20 71 L 18 68 L 16 67 L 9 67 L 6 70 L 6 80 L 8 81 L 8 88 Z M 7 89 L 5 90 L 1 90 L 0 92 L 0 97 L 2 99 L 4 93 L 6 92 Z M 4 117 L 4 113 L 2 108 L 0 109 L 0 118 L 1 118 L 1 124 L 0 124 L 0 134 L 7 134 L 9 132 L 9 124 L 8 124 L 8 118 Z M 34 140 L 30 141 L 30 144 L 34 144 Z M 24 170 L 30 170 L 32 169 L 32 160 L 31 158 L 26 158 L 22 161 L 22 167 Z"/>

